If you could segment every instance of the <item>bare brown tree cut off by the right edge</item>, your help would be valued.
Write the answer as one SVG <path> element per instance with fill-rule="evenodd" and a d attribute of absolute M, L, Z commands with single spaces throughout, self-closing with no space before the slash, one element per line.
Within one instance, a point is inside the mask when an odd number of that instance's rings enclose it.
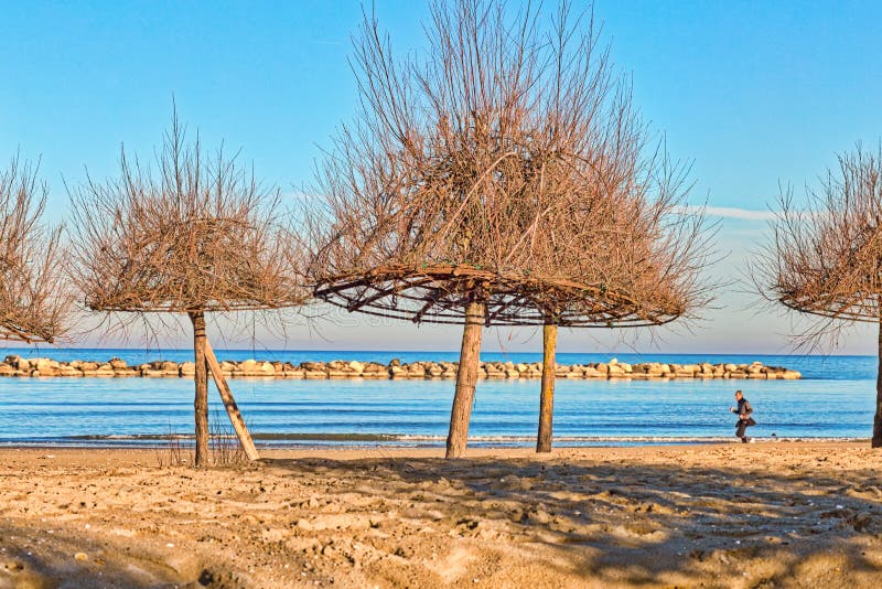
<path fill-rule="evenodd" d="M 772 301 L 811 318 L 795 335 L 798 346 L 836 345 L 842 330 L 879 323 L 872 447 L 882 447 L 882 148 L 860 146 L 839 157 L 838 169 L 807 188 L 805 208 L 793 191 L 779 197 L 775 242 L 755 268 Z"/>

